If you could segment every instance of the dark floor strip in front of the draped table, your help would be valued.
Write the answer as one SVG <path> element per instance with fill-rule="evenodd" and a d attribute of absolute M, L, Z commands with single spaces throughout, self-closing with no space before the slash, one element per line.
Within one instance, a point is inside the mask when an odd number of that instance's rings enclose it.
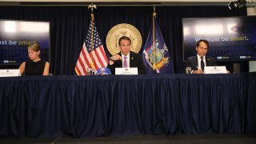
<path fill-rule="evenodd" d="M 248 134 L 175 134 L 175 135 L 130 135 L 93 138 L 11 138 L 2 137 L 0 143 L 90 143 L 90 144 L 256 144 L 256 135 Z"/>

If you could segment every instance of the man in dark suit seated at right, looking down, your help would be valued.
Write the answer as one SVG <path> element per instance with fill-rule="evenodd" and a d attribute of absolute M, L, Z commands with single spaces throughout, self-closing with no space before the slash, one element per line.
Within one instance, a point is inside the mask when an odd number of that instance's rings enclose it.
<path fill-rule="evenodd" d="M 200 39 L 197 42 L 196 51 L 197 55 L 186 58 L 186 67 L 191 67 L 192 74 L 203 74 L 204 66 L 215 66 L 214 58 L 207 57 L 209 42 Z"/>

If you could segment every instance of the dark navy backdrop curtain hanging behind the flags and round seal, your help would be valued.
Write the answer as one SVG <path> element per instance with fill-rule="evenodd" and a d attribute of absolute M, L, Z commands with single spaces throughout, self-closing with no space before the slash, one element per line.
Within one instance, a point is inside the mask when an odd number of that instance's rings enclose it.
<path fill-rule="evenodd" d="M 150 30 L 153 6 L 98 6 L 95 22 L 106 49 L 108 31 L 119 23 L 138 28 L 142 42 Z M 246 10 L 230 11 L 227 6 L 157 6 L 157 19 L 175 73 L 183 73 L 182 18 L 229 17 L 246 15 Z M 73 75 L 90 22 L 85 6 L 0 6 L 1 19 L 50 21 L 50 73 Z M 143 47 L 142 45 L 142 47 Z M 110 57 L 106 49 L 107 57 Z M 142 53 L 142 49 L 140 51 Z"/>

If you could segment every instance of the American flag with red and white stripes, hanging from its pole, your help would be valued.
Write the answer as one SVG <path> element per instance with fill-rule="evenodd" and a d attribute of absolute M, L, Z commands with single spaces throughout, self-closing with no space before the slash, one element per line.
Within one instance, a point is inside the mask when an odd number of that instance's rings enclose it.
<path fill-rule="evenodd" d="M 87 71 L 89 69 L 92 68 L 97 71 L 101 67 L 106 67 L 107 64 L 105 50 L 98 36 L 94 18 L 92 18 L 86 34 L 86 40 L 82 45 L 82 50 L 75 66 L 75 72 L 78 75 L 88 75 Z"/>

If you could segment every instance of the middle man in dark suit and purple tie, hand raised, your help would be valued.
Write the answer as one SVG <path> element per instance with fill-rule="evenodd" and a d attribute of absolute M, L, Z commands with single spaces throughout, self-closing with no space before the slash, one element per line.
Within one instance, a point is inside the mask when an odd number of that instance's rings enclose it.
<path fill-rule="evenodd" d="M 145 66 L 141 54 L 130 51 L 130 38 L 122 36 L 119 38 L 118 45 L 120 52 L 110 57 L 107 67 L 115 74 L 116 67 L 138 67 L 138 74 L 146 74 Z"/>

